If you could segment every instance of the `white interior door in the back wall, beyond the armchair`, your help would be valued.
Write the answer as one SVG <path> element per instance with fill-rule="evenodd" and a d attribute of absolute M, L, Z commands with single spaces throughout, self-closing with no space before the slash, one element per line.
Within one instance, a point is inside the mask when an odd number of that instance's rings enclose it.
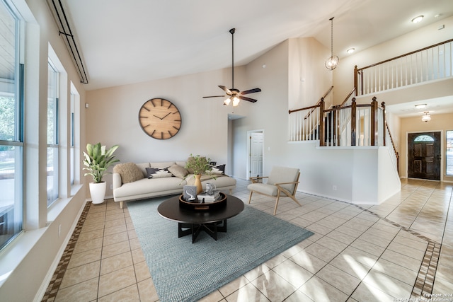
<path fill-rule="evenodd" d="M 263 130 L 248 132 L 248 178 L 263 176 L 264 132 Z"/>

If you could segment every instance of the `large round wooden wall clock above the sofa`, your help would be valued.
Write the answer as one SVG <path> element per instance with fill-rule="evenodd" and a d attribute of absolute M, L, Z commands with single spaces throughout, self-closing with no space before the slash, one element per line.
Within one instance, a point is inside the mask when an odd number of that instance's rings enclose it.
<path fill-rule="evenodd" d="M 170 139 L 181 128 L 181 115 L 169 100 L 151 98 L 139 110 L 139 123 L 153 139 Z"/>

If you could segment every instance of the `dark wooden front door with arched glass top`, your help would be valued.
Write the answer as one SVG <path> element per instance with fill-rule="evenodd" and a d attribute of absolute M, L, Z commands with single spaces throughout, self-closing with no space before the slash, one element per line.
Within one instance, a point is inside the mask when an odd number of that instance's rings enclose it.
<path fill-rule="evenodd" d="M 409 133 L 408 177 L 440 180 L 440 132 Z"/>

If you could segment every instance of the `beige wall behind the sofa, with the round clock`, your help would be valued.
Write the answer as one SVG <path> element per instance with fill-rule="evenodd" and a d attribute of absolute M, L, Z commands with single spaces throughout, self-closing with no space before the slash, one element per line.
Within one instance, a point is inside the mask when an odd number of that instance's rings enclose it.
<path fill-rule="evenodd" d="M 235 67 L 234 71 L 235 86 L 245 90 L 245 67 Z M 224 98 L 202 98 L 222 95 L 224 91 L 218 85 L 231 88 L 231 69 L 87 91 L 86 139 L 106 146 L 119 144 L 115 154 L 122 163 L 185 161 L 190 153 L 219 164 L 229 163 L 228 114 L 232 106 L 224 106 Z M 151 98 L 166 98 L 180 110 L 181 129 L 171 139 L 153 139 L 139 125 L 139 109 Z M 226 165 L 226 173 L 231 170 L 231 165 Z M 107 195 L 111 195 L 111 175 L 105 180 Z"/>

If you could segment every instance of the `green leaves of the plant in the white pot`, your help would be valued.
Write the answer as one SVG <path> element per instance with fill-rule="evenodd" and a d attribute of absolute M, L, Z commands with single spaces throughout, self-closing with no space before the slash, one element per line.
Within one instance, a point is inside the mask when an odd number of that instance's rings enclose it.
<path fill-rule="evenodd" d="M 88 170 L 88 172 L 84 175 L 91 175 L 95 183 L 103 182 L 104 175 L 110 174 L 110 172 L 107 172 L 108 167 L 120 161 L 115 159 L 113 155 L 118 147 L 118 145 L 115 145 L 107 149 L 101 143 L 87 144 L 86 152 L 84 152 L 84 170 Z"/>

